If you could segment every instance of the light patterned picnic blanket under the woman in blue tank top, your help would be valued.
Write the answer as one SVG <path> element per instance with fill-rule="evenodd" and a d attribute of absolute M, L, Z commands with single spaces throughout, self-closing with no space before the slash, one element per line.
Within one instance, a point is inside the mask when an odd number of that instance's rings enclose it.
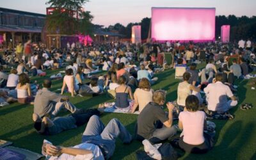
<path fill-rule="evenodd" d="M 104 111 L 105 112 L 111 112 L 111 113 L 130 113 L 130 114 L 136 114 L 139 115 L 140 111 L 135 111 L 134 113 L 131 113 L 131 106 L 133 105 L 133 100 L 130 100 L 130 105 L 127 108 L 116 108 L 115 102 L 105 102 L 104 103 Z"/>

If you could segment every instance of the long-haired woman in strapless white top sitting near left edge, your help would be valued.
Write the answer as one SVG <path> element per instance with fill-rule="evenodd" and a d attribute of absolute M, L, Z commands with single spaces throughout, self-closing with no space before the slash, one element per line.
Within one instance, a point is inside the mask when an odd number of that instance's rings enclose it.
<path fill-rule="evenodd" d="M 27 74 L 22 73 L 19 75 L 19 83 L 16 90 L 20 104 L 34 104 L 35 97 L 31 92 L 30 79 Z"/>

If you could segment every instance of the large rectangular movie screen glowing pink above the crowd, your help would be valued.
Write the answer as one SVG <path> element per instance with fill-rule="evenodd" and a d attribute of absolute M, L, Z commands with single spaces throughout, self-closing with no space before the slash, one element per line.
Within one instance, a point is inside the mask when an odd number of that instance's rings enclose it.
<path fill-rule="evenodd" d="M 155 40 L 215 40 L 215 8 L 152 8 Z"/>

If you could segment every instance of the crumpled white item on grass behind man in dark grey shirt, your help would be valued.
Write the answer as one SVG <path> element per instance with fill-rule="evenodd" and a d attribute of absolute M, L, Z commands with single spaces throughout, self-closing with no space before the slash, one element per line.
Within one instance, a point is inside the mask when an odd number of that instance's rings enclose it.
<path fill-rule="evenodd" d="M 161 154 L 158 152 L 157 148 L 154 147 L 148 140 L 143 140 L 142 144 L 144 145 L 144 150 L 147 152 L 148 156 L 154 159 L 162 159 Z"/>

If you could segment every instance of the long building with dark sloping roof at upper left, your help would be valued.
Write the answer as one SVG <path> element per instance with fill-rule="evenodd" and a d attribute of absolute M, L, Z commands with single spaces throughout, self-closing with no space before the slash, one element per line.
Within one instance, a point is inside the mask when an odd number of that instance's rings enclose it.
<path fill-rule="evenodd" d="M 0 38 L 4 45 L 13 47 L 19 42 L 41 41 L 46 15 L 0 8 Z"/>

